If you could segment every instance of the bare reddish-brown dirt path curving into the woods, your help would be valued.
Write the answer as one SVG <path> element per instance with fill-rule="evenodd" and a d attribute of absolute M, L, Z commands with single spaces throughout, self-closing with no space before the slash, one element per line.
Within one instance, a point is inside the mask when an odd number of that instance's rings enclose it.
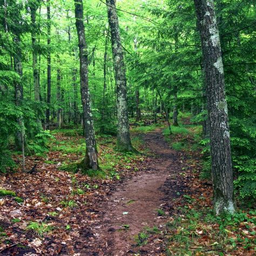
<path fill-rule="evenodd" d="M 93 244 L 100 247 L 100 252 L 92 255 L 134 255 L 134 236 L 143 227 L 159 226 L 164 221 L 157 212 L 165 196 L 160 188 L 167 177 L 175 173 L 176 151 L 170 149 L 161 130 L 147 133 L 143 139 L 156 158 L 146 166 L 144 173 L 118 185 L 108 201 L 97 207 L 103 213 L 103 219 L 93 230 L 97 237 Z"/>

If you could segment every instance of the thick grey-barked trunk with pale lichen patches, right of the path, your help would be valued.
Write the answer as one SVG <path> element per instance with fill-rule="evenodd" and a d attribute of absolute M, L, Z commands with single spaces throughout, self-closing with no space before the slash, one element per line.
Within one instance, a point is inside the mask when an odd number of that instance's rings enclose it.
<path fill-rule="evenodd" d="M 213 205 L 218 215 L 234 213 L 233 173 L 223 60 L 213 0 L 194 0 L 201 36 L 206 83 L 213 178 Z"/>

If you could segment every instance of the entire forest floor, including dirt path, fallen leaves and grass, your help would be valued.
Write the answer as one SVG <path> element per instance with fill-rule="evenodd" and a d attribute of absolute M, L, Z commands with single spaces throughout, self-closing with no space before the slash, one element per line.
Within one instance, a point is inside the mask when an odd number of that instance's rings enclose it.
<path fill-rule="evenodd" d="M 83 137 L 53 132 L 50 151 L 27 158 L 35 173 L 0 178 L 15 192 L 0 199 L 0 255 L 254 255 L 255 211 L 214 217 L 200 129 L 183 123 L 171 136 L 163 126 L 135 127 L 137 155 L 99 137 L 102 171 L 84 174 L 70 172 Z"/>

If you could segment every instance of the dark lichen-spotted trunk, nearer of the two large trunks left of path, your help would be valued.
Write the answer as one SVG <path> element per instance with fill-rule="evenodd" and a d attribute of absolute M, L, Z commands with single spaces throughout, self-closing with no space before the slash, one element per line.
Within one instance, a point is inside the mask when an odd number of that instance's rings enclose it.
<path fill-rule="evenodd" d="M 75 0 L 75 17 L 79 46 L 80 86 L 86 142 L 86 152 L 85 158 L 83 160 L 83 167 L 84 169 L 97 170 L 99 168 L 97 156 L 98 152 L 96 146 L 95 132 L 93 129 L 91 99 L 88 84 L 88 52 L 84 31 L 83 0 Z"/>

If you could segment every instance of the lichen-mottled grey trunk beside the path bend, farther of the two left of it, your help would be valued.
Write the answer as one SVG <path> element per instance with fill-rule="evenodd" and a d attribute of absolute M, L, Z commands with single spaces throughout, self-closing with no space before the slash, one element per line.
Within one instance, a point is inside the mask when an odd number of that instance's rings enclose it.
<path fill-rule="evenodd" d="M 124 66 L 124 55 L 121 44 L 116 0 L 106 0 L 107 16 L 111 32 L 114 71 L 117 86 L 117 146 L 123 151 L 133 151 L 130 138 L 129 118 L 127 111 L 127 88 Z"/>

